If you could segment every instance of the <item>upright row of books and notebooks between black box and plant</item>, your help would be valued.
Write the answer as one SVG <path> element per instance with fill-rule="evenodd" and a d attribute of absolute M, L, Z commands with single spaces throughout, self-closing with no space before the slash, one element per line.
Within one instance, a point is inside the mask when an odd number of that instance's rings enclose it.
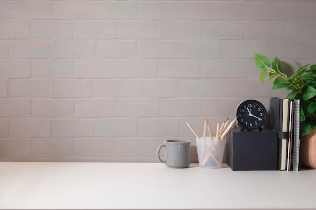
<path fill-rule="evenodd" d="M 299 122 L 299 99 L 270 99 L 270 128 L 278 132 L 278 170 L 298 171 Z"/>

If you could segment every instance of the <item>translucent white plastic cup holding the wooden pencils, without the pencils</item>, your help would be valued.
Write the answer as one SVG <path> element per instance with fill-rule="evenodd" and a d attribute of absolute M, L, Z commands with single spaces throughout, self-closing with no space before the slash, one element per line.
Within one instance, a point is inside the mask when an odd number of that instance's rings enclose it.
<path fill-rule="evenodd" d="M 200 168 L 222 168 L 226 138 L 206 137 L 205 140 L 202 138 L 195 138 L 195 140 Z"/>

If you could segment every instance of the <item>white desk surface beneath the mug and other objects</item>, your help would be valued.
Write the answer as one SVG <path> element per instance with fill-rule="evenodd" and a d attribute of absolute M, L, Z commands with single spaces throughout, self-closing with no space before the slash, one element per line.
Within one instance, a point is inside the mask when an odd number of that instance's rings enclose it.
<path fill-rule="evenodd" d="M 0 162 L 2 209 L 316 208 L 316 170 Z"/>

